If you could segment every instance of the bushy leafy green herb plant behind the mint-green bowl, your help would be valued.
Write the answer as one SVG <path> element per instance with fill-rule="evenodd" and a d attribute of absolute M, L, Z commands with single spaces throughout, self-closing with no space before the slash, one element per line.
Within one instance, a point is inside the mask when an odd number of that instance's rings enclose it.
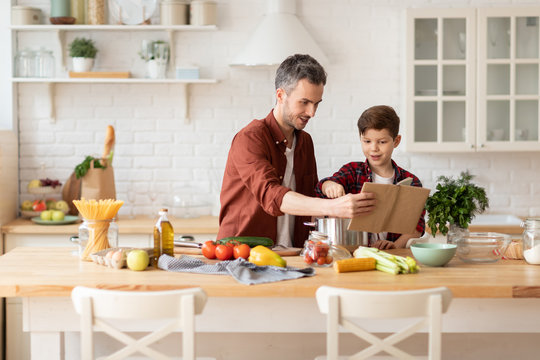
<path fill-rule="evenodd" d="M 427 225 L 433 236 L 437 231 L 448 234 L 448 242 L 452 243 L 455 236 L 468 231 L 475 215 L 489 206 L 484 188 L 471 183 L 473 177 L 465 171 L 458 179 L 446 176 L 437 179 L 437 191 L 426 201 Z"/>

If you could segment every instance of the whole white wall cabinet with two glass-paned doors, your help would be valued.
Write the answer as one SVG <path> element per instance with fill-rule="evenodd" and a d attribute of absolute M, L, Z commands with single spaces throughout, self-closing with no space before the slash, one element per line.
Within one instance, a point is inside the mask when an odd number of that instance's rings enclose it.
<path fill-rule="evenodd" d="M 408 151 L 540 150 L 540 8 L 407 12 Z"/>

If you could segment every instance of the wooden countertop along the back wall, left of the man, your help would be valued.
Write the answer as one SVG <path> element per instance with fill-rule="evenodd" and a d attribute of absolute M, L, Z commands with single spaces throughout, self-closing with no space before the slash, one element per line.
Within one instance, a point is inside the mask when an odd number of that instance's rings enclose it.
<path fill-rule="evenodd" d="M 201 216 L 197 218 L 173 218 L 169 220 L 177 234 L 217 234 L 219 223 L 217 216 Z M 152 234 L 156 219 L 137 216 L 134 219 L 120 217 L 117 220 L 120 234 Z M 38 225 L 29 219 L 15 219 L 2 226 L 6 234 L 35 235 L 75 235 L 80 223 L 69 225 Z"/>

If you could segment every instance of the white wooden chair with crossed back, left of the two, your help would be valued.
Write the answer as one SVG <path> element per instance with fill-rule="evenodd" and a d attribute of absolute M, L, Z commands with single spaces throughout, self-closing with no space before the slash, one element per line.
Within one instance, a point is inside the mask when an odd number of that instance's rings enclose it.
<path fill-rule="evenodd" d="M 81 317 L 81 359 L 94 359 L 94 330 L 126 344 L 103 359 L 124 359 L 142 353 L 151 359 L 168 359 L 148 345 L 182 329 L 183 360 L 195 359 L 195 314 L 206 304 L 206 293 L 200 288 L 168 291 L 114 291 L 77 286 L 71 292 L 75 311 Z M 166 319 L 166 324 L 148 335 L 134 339 L 113 327 L 107 320 Z"/>

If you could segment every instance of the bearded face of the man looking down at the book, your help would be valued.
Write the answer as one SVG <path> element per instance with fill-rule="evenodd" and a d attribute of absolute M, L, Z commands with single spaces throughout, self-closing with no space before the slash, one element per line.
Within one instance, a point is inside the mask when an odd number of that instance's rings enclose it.
<path fill-rule="evenodd" d="M 315 116 L 322 101 L 324 85 L 314 85 L 307 79 L 298 81 L 288 94 L 283 89 L 277 90 L 277 99 L 281 108 L 282 126 L 302 130 L 309 119 Z"/>

